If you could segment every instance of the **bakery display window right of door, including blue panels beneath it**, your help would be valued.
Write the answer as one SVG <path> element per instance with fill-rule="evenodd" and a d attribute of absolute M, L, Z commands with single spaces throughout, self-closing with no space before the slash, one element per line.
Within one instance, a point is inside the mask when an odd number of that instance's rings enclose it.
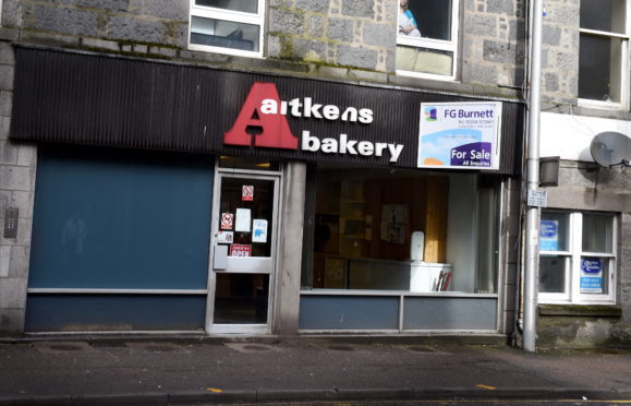
<path fill-rule="evenodd" d="M 301 330 L 497 331 L 501 180 L 378 168 L 314 175 Z"/>

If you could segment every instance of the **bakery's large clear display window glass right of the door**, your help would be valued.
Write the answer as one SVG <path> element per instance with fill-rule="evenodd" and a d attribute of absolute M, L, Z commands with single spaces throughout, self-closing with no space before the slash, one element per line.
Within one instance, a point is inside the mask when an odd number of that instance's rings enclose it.
<path fill-rule="evenodd" d="M 338 167 L 307 183 L 303 288 L 497 292 L 495 178 Z"/>

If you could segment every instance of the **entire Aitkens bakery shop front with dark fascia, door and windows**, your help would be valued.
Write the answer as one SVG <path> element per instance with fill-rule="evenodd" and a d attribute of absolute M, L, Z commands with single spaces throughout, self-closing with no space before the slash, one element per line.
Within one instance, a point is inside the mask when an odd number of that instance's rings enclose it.
<path fill-rule="evenodd" d="M 521 104 L 28 47 L 16 72 L 25 332 L 510 329 Z"/>

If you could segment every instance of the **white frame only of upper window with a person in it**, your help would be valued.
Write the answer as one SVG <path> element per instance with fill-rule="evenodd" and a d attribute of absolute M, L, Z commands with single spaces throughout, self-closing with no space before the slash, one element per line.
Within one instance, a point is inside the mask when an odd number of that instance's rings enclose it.
<path fill-rule="evenodd" d="M 399 4 L 397 2 L 397 4 Z M 458 27 L 460 25 L 459 21 L 459 10 L 460 0 L 452 0 L 451 2 L 451 40 L 442 40 L 435 38 L 410 38 L 399 35 L 399 24 L 397 24 L 397 46 L 403 45 L 414 48 L 427 48 L 434 50 L 449 51 L 453 55 L 451 75 L 441 75 L 434 73 L 423 73 L 413 71 L 403 71 L 397 69 L 396 72 L 401 76 L 411 76 L 420 79 L 432 79 L 436 81 L 454 81 L 458 71 Z M 399 13 L 397 12 L 397 17 Z"/>

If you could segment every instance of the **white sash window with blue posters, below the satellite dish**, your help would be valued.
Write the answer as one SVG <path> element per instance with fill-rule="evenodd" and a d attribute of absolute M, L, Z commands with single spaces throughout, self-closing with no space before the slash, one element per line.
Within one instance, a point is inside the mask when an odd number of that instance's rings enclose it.
<path fill-rule="evenodd" d="M 611 303 L 616 292 L 616 217 L 542 213 L 539 302 Z"/>

